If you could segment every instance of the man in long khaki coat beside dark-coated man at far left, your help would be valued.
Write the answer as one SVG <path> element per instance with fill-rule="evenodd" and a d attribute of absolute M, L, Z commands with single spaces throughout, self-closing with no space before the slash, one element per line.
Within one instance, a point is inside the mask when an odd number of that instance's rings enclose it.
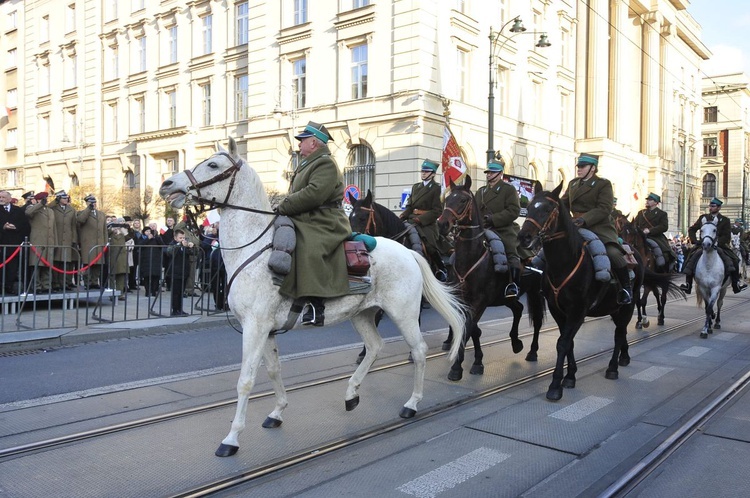
<path fill-rule="evenodd" d="M 57 244 L 55 213 L 47 206 L 48 196 L 47 192 L 34 195 L 25 211 L 31 225 L 29 241 L 36 249 L 29 251 L 29 274 L 36 292 L 49 292 L 52 289 L 52 272 L 42 261 L 42 258 L 54 260 L 54 246 Z"/>

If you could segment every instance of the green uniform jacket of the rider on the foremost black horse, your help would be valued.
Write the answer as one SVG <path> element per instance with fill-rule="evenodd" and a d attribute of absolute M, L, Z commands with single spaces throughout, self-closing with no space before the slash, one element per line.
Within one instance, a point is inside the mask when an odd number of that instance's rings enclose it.
<path fill-rule="evenodd" d="M 594 232 L 605 244 L 620 248 L 617 231 L 610 218 L 615 200 L 609 180 L 596 175 L 588 180 L 571 180 L 562 201 L 570 208 L 573 218 L 583 218 L 583 228 Z"/>

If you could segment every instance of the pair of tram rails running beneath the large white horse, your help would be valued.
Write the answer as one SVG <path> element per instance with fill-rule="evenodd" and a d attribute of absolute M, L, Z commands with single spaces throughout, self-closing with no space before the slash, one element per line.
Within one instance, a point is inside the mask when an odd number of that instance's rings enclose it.
<path fill-rule="evenodd" d="M 725 309 L 728 311 L 728 310 L 731 310 L 735 307 L 742 306 L 742 305 L 743 305 L 742 303 L 738 303 L 734 306 L 726 307 Z M 689 326 L 693 323 L 696 323 L 702 320 L 703 320 L 702 316 L 697 316 L 692 319 L 686 319 L 685 321 L 681 321 L 680 323 L 675 324 L 673 326 L 664 327 L 660 330 L 655 330 L 654 332 L 649 333 L 647 336 L 630 340 L 629 344 L 635 345 L 635 344 L 642 343 L 644 341 L 648 341 L 650 339 L 655 339 L 657 337 L 673 332 L 674 330 L 684 328 L 686 326 Z M 596 321 L 596 320 L 589 320 L 589 321 Z M 548 334 L 556 330 L 557 330 L 556 326 L 550 326 L 550 327 L 546 327 L 542 329 L 540 333 Z M 523 334 L 522 337 L 527 338 L 527 337 L 530 337 L 531 335 L 532 333 L 529 332 L 529 333 Z M 483 346 L 492 346 L 492 345 L 505 343 L 508 341 L 509 341 L 509 338 L 503 337 L 503 338 L 498 338 L 498 339 L 494 339 L 491 341 L 487 341 L 486 343 L 483 344 Z M 470 348 L 467 348 L 467 350 L 469 349 Z M 596 353 L 583 356 L 577 360 L 579 364 L 589 362 L 597 358 L 600 358 L 602 356 L 609 356 L 611 355 L 611 351 L 612 351 L 611 348 L 605 349 Z M 432 353 L 428 355 L 428 359 L 433 360 L 436 358 L 443 358 L 444 356 L 445 356 L 444 352 L 436 352 L 436 353 Z M 467 357 L 467 360 L 468 360 L 468 357 Z M 386 371 L 386 370 L 390 370 L 396 367 L 404 366 L 406 364 L 408 364 L 406 360 L 394 361 L 385 365 L 374 367 L 371 370 L 371 372 Z M 381 424 L 376 427 L 371 427 L 371 428 L 368 428 L 367 430 L 363 430 L 361 432 L 350 434 L 346 437 L 331 440 L 330 442 L 326 444 L 316 446 L 314 450 L 310 450 L 308 448 L 308 449 L 299 451 L 297 453 L 287 455 L 283 458 L 276 459 L 269 463 L 256 466 L 249 470 L 236 473 L 234 475 L 230 475 L 230 476 L 221 478 L 219 480 L 216 480 L 210 483 L 196 485 L 195 487 L 191 489 L 181 491 L 178 494 L 175 494 L 173 496 L 175 497 L 207 496 L 213 493 L 217 493 L 219 491 L 228 490 L 233 487 L 240 486 L 242 484 L 247 484 L 253 480 L 272 475 L 276 472 L 280 472 L 294 465 L 308 462 L 315 458 L 319 458 L 321 456 L 347 448 L 359 442 L 366 441 L 368 439 L 377 437 L 379 435 L 383 435 L 392 431 L 399 430 L 408 425 L 421 422 L 431 417 L 446 413 L 450 410 L 457 409 L 468 403 L 481 400 L 484 398 L 488 398 L 490 396 L 502 393 L 504 391 L 508 391 L 510 389 L 522 386 L 524 384 L 537 381 L 540 378 L 549 376 L 552 371 L 553 371 L 553 367 L 550 367 L 550 368 L 546 368 L 541 371 L 535 372 L 533 374 L 529 374 L 529 375 L 516 378 L 516 379 L 511 379 L 500 385 L 492 386 L 490 388 L 487 388 L 481 391 L 476 391 L 470 395 L 463 396 L 458 399 L 450 400 L 448 402 L 434 406 L 429 409 L 421 410 L 420 412 L 418 412 L 417 416 L 414 419 L 409 419 L 409 420 L 397 419 L 392 422 Z M 310 389 L 313 387 L 318 387 L 318 386 L 322 386 L 326 384 L 331 384 L 334 382 L 339 382 L 342 380 L 347 380 L 350 377 L 350 375 L 351 375 L 350 373 L 347 373 L 347 374 L 341 374 L 341 375 L 334 375 L 334 376 L 326 377 L 323 379 L 317 379 L 317 380 L 310 381 L 310 382 L 303 382 L 298 385 L 291 386 L 288 389 L 288 391 L 293 392 L 293 391 L 298 391 L 298 390 L 303 390 L 303 389 Z M 260 398 L 270 397 L 272 395 L 273 393 L 270 391 L 258 393 L 258 394 L 250 396 L 249 400 L 257 400 Z M 114 434 L 117 432 L 134 430 L 134 429 L 138 429 L 141 427 L 145 427 L 147 425 L 158 424 L 162 422 L 176 420 L 182 417 L 188 417 L 188 416 L 192 416 L 192 415 L 196 415 L 200 413 L 205 413 L 211 410 L 225 408 L 228 406 L 232 406 L 235 403 L 236 403 L 236 398 L 231 398 L 231 399 L 217 401 L 217 402 L 206 404 L 206 405 L 201 405 L 201 406 L 194 407 L 194 408 L 174 411 L 170 413 L 161 414 L 158 416 L 142 418 L 139 420 L 129 421 L 129 422 L 121 423 L 121 424 L 114 424 L 114 425 L 102 427 L 99 429 L 93 429 L 93 430 L 79 432 L 79 433 L 75 433 L 75 434 L 71 434 L 67 436 L 61 436 L 57 438 L 51 438 L 51 439 L 47 439 L 43 441 L 38 441 L 35 443 L 29 443 L 25 445 L 19 445 L 19 446 L 7 448 L 7 449 L 2 449 L 0 450 L 0 462 L 2 462 L 4 459 L 7 459 L 7 458 L 18 457 L 18 456 L 33 453 L 33 452 L 41 452 L 41 451 L 52 449 L 54 447 L 61 446 L 61 445 L 74 444 L 77 442 L 85 441 L 87 439 L 102 437 L 102 436 Z"/>

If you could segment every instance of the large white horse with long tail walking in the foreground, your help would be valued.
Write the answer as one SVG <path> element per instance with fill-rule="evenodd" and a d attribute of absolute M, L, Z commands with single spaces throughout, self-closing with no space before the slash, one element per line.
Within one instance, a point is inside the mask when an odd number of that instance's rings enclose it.
<path fill-rule="evenodd" d="M 239 448 L 239 434 L 245 428 L 247 399 L 264 360 L 276 394 L 276 406 L 263 427 L 278 427 L 287 396 L 280 376 L 277 330 L 288 328 L 292 299 L 285 298 L 273 284 L 268 268 L 275 219 L 263 184 L 257 173 L 237 154 L 229 139 L 229 150 L 219 146 L 216 154 L 191 170 L 177 173 L 162 183 L 159 194 L 174 208 L 183 205 L 213 204 L 221 211 L 221 252 L 230 275 L 229 305 L 242 326 L 242 368 L 237 381 L 237 409 L 232 428 L 216 450 L 217 456 L 230 456 Z M 372 288 L 367 294 L 348 295 L 326 301 L 326 323 L 351 320 L 367 348 L 364 360 L 349 379 L 345 396 L 347 411 L 359 403 L 359 386 L 383 347 L 375 327 L 375 314 L 383 309 L 398 326 L 414 359 L 414 386 L 400 416 L 416 414 L 422 399 L 427 344 L 419 329 L 422 295 L 453 327 L 450 361 L 458 353 L 464 330 L 464 307 L 451 288 L 432 275 L 425 259 L 392 240 L 377 237 L 370 253 Z M 297 311 L 297 314 L 299 311 Z M 296 318 L 296 317 L 295 317 Z M 299 320 L 292 326 L 299 326 Z M 286 324 L 286 326 L 285 326 Z"/>

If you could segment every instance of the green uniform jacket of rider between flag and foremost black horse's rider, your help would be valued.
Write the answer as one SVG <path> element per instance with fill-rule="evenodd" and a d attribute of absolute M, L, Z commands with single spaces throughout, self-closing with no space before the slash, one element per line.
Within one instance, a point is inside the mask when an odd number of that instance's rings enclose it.
<path fill-rule="evenodd" d="M 521 213 L 516 189 L 500 180 L 494 187 L 486 185 L 477 190 L 477 204 L 479 214 L 484 221 L 490 216 L 490 229 L 500 236 L 508 257 L 518 257 L 518 232 L 520 230 L 516 218 Z"/>

